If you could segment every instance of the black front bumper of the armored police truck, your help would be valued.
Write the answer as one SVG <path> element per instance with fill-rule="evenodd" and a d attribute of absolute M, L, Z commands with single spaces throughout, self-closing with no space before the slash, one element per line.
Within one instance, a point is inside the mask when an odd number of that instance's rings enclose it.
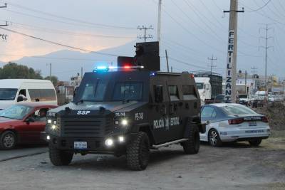
<path fill-rule="evenodd" d="M 121 136 L 121 135 L 120 135 Z M 114 154 L 115 152 L 122 152 L 125 150 L 126 144 L 133 139 L 134 134 L 123 135 L 124 141 L 119 142 L 116 137 L 56 137 L 53 134 L 41 133 L 41 138 L 48 141 L 49 146 L 56 149 L 71 151 L 71 152 L 85 152 L 85 153 L 97 153 L 97 154 Z M 114 143 L 108 147 L 105 144 L 105 140 L 111 138 Z M 86 149 L 75 149 L 74 142 L 86 142 Z"/>

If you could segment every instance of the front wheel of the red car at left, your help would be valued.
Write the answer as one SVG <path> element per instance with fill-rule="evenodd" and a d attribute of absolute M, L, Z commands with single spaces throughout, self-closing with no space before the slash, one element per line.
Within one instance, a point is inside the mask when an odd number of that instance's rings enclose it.
<path fill-rule="evenodd" d="M 17 144 L 17 135 L 12 131 L 5 131 L 0 136 L 0 149 L 14 149 Z"/>

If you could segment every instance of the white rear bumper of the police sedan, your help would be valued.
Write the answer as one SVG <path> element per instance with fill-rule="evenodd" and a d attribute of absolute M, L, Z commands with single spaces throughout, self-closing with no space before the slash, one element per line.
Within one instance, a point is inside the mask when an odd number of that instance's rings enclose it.
<path fill-rule="evenodd" d="M 269 127 L 248 130 L 219 130 L 222 142 L 247 141 L 249 139 L 267 139 L 270 136 Z"/>

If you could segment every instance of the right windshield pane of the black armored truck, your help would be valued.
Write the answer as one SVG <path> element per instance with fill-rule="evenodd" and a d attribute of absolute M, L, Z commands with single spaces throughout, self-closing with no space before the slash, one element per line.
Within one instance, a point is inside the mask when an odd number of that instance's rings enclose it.
<path fill-rule="evenodd" d="M 141 100 L 142 99 L 142 83 L 125 82 L 115 84 L 113 100 Z"/>

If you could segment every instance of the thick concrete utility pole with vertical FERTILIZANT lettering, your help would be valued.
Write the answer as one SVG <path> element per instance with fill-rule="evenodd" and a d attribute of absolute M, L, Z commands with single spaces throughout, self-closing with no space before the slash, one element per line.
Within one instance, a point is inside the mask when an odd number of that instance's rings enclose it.
<path fill-rule="evenodd" d="M 224 100 L 227 102 L 236 102 L 236 78 L 237 78 L 237 15 L 243 13 L 238 11 L 238 0 L 231 0 L 229 11 L 229 33 L 227 46 L 227 72 L 224 90 Z"/>

